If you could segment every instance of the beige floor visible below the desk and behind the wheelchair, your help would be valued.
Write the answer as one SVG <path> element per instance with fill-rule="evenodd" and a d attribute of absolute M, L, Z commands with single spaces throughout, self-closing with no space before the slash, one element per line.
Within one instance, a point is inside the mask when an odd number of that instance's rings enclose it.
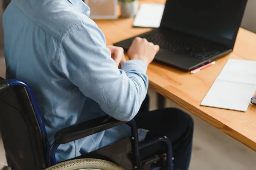
<path fill-rule="evenodd" d="M 0 26 L 0 42 L 2 39 Z M 5 77 L 5 62 L 3 56 L 3 46 L 0 45 L 0 77 Z M 157 108 L 156 93 L 151 89 L 149 89 L 148 92 L 151 96 L 151 110 L 155 110 Z M 169 100 L 166 102 L 166 106 L 179 108 L 179 106 Z M 255 151 L 230 136 L 227 136 L 193 114 L 191 114 L 191 116 L 195 121 L 195 134 L 189 170 L 256 169 Z M 0 136 L 0 169 L 3 167 L 3 164 L 6 164 L 6 159 Z"/>

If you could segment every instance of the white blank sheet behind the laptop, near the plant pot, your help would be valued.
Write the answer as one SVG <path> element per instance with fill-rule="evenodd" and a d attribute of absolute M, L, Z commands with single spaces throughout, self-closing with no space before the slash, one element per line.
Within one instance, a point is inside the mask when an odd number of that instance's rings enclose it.
<path fill-rule="evenodd" d="M 164 4 L 162 3 L 143 3 L 134 19 L 133 26 L 159 28 Z"/>

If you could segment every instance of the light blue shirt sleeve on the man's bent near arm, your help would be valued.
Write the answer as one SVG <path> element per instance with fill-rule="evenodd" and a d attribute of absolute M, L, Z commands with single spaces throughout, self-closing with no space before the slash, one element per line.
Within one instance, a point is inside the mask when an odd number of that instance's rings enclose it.
<path fill-rule="evenodd" d="M 114 33 L 113 33 L 114 34 Z M 147 64 L 129 60 L 119 70 L 95 23 L 82 23 L 62 41 L 57 67 L 67 79 L 115 119 L 130 121 L 148 89 Z"/>

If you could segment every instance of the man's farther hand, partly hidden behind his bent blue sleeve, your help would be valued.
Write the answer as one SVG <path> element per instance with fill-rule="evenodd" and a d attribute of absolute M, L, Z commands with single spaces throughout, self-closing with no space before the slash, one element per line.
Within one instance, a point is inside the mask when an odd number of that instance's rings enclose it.
<path fill-rule="evenodd" d="M 120 68 L 123 62 L 126 62 L 124 49 L 122 47 L 107 46 L 111 53 L 111 58 L 116 62 L 116 65 Z"/>

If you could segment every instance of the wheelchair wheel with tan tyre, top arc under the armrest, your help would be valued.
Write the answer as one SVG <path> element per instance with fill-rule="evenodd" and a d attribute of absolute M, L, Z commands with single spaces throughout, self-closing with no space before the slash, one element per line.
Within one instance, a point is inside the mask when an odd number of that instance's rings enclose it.
<path fill-rule="evenodd" d="M 124 168 L 101 159 L 75 159 L 56 164 L 46 170 L 125 170 Z"/>

